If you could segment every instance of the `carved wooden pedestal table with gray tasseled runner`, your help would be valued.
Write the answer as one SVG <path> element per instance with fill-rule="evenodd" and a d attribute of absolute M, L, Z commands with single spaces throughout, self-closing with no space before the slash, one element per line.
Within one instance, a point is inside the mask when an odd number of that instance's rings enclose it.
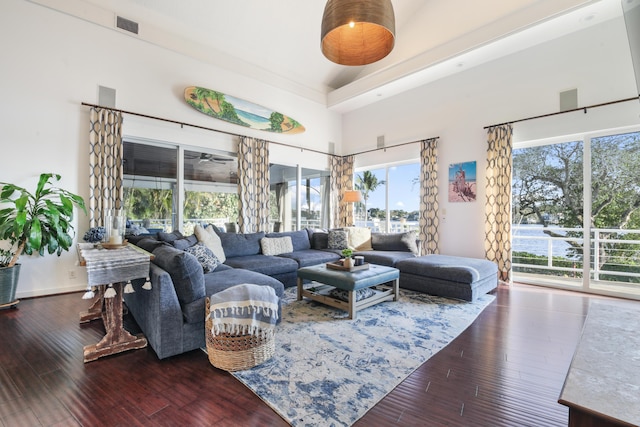
<path fill-rule="evenodd" d="M 91 308 L 80 313 L 80 323 L 102 317 L 106 330 L 100 342 L 84 347 L 84 362 L 146 347 L 147 339 L 142 334 L 131 335 L 122 325 L 122 293 L 127 281 L 148 277 L 153 255 L 131 245 L 102 249 L 90 243 L 79 243 L 78 256 L 80 265 L 87 267 L 89 285 L 98 288 Z M 110 288 L 109 296 L 105 296 Z"/>

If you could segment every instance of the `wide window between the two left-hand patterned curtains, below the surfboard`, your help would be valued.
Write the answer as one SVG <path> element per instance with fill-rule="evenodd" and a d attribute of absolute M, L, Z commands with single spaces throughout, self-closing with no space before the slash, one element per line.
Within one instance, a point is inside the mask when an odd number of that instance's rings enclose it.
<path fill-rule="evenodd" d="M 125 141 L 127 217 L 151 232 L 186 234 L 198 223 L 235 223 L 237 165 L 231 153 Z"/>

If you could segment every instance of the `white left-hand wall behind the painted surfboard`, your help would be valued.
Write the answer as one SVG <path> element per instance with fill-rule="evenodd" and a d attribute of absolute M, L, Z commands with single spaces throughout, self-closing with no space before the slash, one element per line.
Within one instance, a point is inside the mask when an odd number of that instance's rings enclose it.
<path fill-rule="evenodd" d="M 0 40 L 2 182 L 33 187 L 41 172 L 56 172 L 63 176 L 63 188 L 86 200 L 89 108 L 81 103 L 97 103 L 99 85 L 116 89 L 116 107 L 127 111 L 233 133 L 241 130 L 321 151 L 328 150 L 329 142 L 341 144 L 341 117 L 324 105 L 24 0 L 0 3 Z M 184 88 L 192 85 L 282 111 L 307 130 L 300 135 L 269 134 L 207 117 L 184 101 Z M 234 146 L 230 137 L 132 116 L 125 116 L 124 133 L 206 148 Z M 320 157 L 326 164 L 326 156 Z M 318 156 L 285 148 L 271 155 L 271 161 L 280 160 L 307 167 L 318 167 L 319 161 Z M 75 228 L 81 239 L 88 228 L 84 214 Z M 85 287 L 86 272 L 76 265 L 75 252 L 60 258 L 23 256 L 20 261 L 18 298 Z M 70 272 L 77 278 L 71 279 Z"/>

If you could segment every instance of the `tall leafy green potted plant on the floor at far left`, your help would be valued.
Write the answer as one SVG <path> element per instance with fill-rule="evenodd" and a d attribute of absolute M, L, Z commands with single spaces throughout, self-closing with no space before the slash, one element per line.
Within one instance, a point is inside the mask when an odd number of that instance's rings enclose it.
<path fill-rule="evenodd" d="M 0 240 L 9 248 L 0 250 L 0 306 L 15 302 L 20 274 L 18 258 L 27 255 L 68 251 L 73 244 L 69 234 L 73 230 L 74 205 L 84 213 L 87 209 L 82 197 L 55 187 L 60 175 L 40 175 L 35 192 L 14 184 L 0 182 Z"/>

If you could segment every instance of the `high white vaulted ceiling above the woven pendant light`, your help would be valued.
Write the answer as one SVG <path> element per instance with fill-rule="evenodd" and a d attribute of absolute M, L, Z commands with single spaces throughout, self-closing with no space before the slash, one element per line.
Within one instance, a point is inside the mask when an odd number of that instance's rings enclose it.
<path fill-rule="evenodd" d="M 392 0 L 396 44 L 381 61 L 320 51 L 326 0 L 30 0 L 181 51 L 346 112 L 621 15 L 621 0 Z M 372 0 L 373 1 L 373 0 Z"/>

